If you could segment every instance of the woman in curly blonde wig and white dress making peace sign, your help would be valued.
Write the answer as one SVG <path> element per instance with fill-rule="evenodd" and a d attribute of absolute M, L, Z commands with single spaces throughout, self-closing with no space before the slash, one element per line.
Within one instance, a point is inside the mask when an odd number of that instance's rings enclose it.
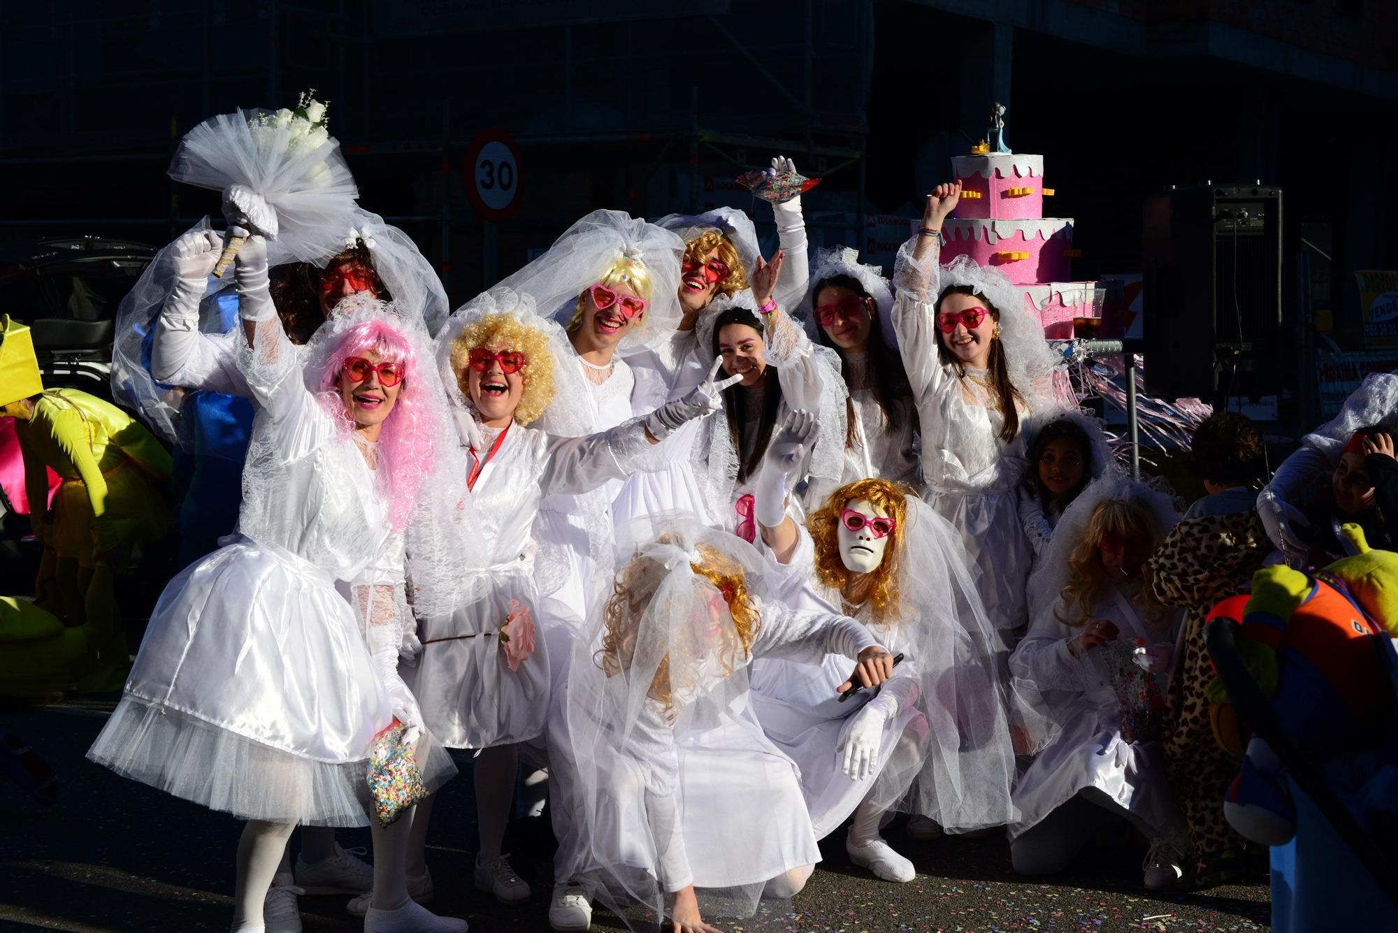
<path fill-rule="evenodd" d="M 551 348 L 562 338 L 549 341 L 547 332 L 556 328 L 535 314 L 528 296 L 496 289 L 457 311 L 438 335 L 439 372 L 461 430 L 461 447 L 449 453 L 456 506 L 421 515 L 408 536 L 410 553 L 431 553 L 414 564 L 422 654 L 407 677 L 443 744 L 482 750 L 475 757 L 475 884 L 506 904 L 530 894 L 500 852 L 516 743 L 544 730 L 551 686 L 545 642 L 535 633 L 540 503 L 626 476 L 646 447 L 710 413 L 723 385 L 706 381 L 686 398 L 608 432 L 549 436 L 527 425 L 554 392 Z M 417 535 L 426 542 L 421 549 Z M 418 879 L 426 873 L 425 832 L 424 818 L 410 865 Z"/>

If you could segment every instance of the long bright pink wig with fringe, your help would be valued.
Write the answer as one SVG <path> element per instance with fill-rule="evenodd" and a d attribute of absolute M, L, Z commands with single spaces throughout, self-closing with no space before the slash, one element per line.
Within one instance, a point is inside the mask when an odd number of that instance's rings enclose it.
<path fill-rule="evenodd" d="M 432 468 L 435 432 L 432 412 L 428 411 L 432 402 L 425 391 L 431 374 L 424 376 L 418 352 L 390 321 L 375 318 L 352 325 L 336 338 L 316 381 L 322 404 L 344 423 L 347 432 L 354 430 L 354 425 L 345 415 L 336 380 L 347 356 L 362 356 L 366 351 L 403 363 L 398 401 L 379 434 L 379 469 L 387 471 L 389 480 L 389 520 L 394 531 L 401 531 L 412 515 L 422 478 Z"/>

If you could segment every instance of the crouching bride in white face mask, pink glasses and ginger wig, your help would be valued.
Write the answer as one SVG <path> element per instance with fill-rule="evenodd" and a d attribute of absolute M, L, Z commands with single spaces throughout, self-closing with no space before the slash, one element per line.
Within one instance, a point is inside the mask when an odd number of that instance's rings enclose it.
<path fill-rule="evenodd" d="M 816 835 L 853 813 L 851 860 L 910 881 L 913 865 L 879 837 L 893 810 L 949 831 L 1002 825 L 1012 816 L 1015 756 L 994 631 L 960 536 L 910 489 L 860 479 L 836 489 L 805 525 L 783 514 L 786 483 L 776 475 L 798 460 L 808 420 L 804 412 L 788 419 L 758 482 L 762 538 L 787 570 L 777 594 L 797 609 L 839 606 L 903 661 L 868 703 L 830 697 L 843 679 L 833 656 L 819 665 L 759 661 L 755 708 L 768 737 L 801 768 Z"/>

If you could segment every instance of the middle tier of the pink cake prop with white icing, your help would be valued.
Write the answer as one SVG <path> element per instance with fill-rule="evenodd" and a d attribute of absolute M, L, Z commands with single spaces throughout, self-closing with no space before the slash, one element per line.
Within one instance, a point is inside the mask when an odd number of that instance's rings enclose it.
<path fill-rule="evenodd" d="M 1015 285 L 1071 278 L 1072 218 L 948 219 L 942 239 L 942 263 L 969 256 L 980 265 L 998 268 Z"/>

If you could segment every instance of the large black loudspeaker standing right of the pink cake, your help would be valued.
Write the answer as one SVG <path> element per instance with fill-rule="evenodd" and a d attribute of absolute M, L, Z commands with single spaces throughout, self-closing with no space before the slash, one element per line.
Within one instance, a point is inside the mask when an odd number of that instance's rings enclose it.
<path fill-rule="evenodd" d="M 1174 189 L 1145 204 L 1145 390 L 1160 398 L 1282 388 L 1282 190 Z"/>

